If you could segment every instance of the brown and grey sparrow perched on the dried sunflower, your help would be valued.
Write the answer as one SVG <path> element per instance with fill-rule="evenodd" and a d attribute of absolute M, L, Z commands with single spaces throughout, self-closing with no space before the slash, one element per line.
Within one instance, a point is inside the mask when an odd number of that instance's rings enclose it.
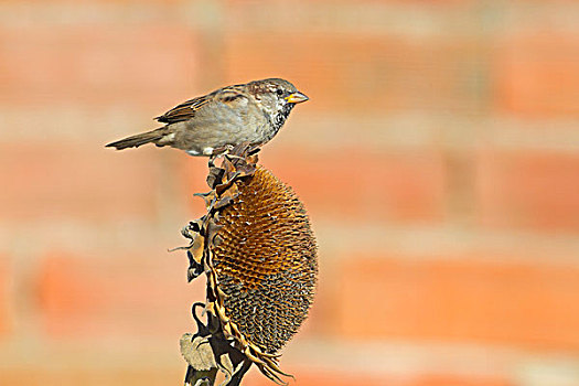
<path fill-rule="evenodd" d="M 127 137 L 106 147 L 117 150 L 154 143 L 213 156 L 244 142 L 261 146 L 281 129 L 296 104 L 309 98 L 285 79 L 233 85 L 178 105 L 154 119 L 165 126 Z"/>

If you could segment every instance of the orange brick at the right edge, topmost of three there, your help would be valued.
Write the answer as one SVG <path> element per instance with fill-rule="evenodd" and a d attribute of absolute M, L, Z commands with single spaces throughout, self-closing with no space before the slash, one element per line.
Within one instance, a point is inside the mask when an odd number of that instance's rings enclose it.
<path fill-rule="evenodd" d="M 496 107 L 528 117 L 579 117 L 579 41 L 539 33 L 507 39 L 495 63 Z"/>

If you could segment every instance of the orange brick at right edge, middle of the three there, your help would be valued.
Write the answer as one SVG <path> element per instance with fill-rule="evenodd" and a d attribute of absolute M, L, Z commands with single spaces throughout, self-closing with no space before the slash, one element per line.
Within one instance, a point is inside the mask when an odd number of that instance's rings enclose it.
<path fill-rule="evenodd" d="M 476 174 L 482 224 L 579 232 L 578 154 L 483 150 Z"/>

